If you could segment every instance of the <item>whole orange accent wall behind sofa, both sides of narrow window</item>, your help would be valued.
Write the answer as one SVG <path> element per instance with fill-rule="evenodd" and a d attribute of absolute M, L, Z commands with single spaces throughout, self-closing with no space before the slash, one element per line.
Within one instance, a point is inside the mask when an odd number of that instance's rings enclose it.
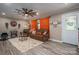
<path fill-rule="evenodd" d="M 46 29 L 49 30 L 49 18 L 41 18 L 40 19 L 40 29 Z M 37 20 L 32 20 L 31 21 L 31 29 L 36 30 L 37 29 Z"/>

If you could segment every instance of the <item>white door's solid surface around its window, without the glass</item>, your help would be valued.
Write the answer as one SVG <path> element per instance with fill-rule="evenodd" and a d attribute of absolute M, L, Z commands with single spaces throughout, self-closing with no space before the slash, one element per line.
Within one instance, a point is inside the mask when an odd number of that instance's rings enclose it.
<path fill-rule="evenodd" d="M 67 15 L 72 16 L 72 15 Z M 66 21 L 65 17 L 62 17 L 62 41 L 69 44 L 78 45 L 78 29 L 76 24 L 76 29 L 73 30 L 73 28 L 69 28 L 70 30 L 66 29 Z M 76 18 L 77 23 L 78 18 Z"/>

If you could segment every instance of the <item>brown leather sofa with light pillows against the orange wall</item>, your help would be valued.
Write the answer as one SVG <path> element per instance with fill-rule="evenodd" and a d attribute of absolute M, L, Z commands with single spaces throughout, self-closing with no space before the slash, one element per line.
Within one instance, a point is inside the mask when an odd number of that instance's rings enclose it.
<path fill-rule="evenodd" d="M 34 30 L 30 32 L 30 37 L 45 42 L 49 39 L 49 31 L 45 29 Z"/>

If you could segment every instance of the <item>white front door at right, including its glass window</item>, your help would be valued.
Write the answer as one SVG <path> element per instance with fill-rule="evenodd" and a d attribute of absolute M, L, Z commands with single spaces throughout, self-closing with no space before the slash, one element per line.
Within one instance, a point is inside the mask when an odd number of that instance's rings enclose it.
<path fill-rule="evenodd" d="M 62 41 L 69 44 L 78 45 L 78 29 L 77 29 L 77 20 L 78 18 L 74 16 L 74 14 L 67 14 L 66 16 L 62 17 Z M 68 22 L 66 20 L 66 17 L 70 17 L 68 19 Z M 73 22 L 73 18 L 75 18 L 75 21 Z M 70 20 L 70 21 L 69 21 Z M 68 25 L 70 24 L 70 25 Z"/>

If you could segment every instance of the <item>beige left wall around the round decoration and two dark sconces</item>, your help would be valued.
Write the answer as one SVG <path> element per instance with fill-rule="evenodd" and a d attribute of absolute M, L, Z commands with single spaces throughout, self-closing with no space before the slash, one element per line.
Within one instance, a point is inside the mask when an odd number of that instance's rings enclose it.
<path fill-rule="evenodd" d="M 0 17 L 0 32 L 9 32 L 9 31 L 12 31 L 12 30 L 22 31 L 25 28 L 25 26 L 27 26 L 27 28 L 28 28 L 27 22 L 25 20 L 15 20 L 17 22 L 17 24 L 21 25 L 20 29 L 18 29 L 18 26 L 12 27 L 10 25 L 10 22 L 12 20 L 14 20 L 14 19 L 8 19 L 8 18 Z M 6 22 L 9 23 L 9 28 L 8 29 L 6 29 L 6 27 L 5 27 Z"/>

